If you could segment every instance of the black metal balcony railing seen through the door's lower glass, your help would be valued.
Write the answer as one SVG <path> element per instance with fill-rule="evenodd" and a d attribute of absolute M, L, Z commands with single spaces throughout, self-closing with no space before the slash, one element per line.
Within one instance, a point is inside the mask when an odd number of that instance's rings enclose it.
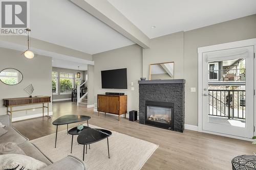
<path fill-rule="evenodd" d="M 245 90 L 208 90 L 208 115 L 245 119 Z"/>

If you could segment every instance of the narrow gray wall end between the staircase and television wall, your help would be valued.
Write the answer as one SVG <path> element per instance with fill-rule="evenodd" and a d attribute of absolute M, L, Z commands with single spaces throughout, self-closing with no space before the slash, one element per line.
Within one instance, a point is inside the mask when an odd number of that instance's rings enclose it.
<path fill-rule="evenodd" d="M 88 105 L 94 105 L 94 65 L 88 65 Z"/>

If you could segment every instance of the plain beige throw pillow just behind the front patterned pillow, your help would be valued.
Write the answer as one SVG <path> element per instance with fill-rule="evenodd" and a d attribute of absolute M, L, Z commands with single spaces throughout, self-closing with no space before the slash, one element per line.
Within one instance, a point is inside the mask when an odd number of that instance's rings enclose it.
<path fill-rule="evenodd" d="M 22 149 L 14 142 L 7 142 L 0 144 L 0 155 L 4 154 L 20 154 L 26 155 Z"/>

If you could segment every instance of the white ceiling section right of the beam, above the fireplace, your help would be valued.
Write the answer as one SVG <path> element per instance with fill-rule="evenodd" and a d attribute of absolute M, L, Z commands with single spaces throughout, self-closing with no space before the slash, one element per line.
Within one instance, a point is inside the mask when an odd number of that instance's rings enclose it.
<path fill-rule="evenodd" d="M 155 38 L 256 13 L 255 0 L 108 0 L 144 34 Z M 155 26 L 155 29 L 151 27 Z"/>

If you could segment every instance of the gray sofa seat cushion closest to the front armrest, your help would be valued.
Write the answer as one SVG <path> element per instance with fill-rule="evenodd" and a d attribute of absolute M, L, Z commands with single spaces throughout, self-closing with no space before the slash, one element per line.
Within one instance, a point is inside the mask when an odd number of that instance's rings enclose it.
<path fill-rule="evenodd" d="M 45 162 L 47 165 L 52 164 L 49 158 L 42 154 L 41 151 L 37 147 L 35 147 L 34 144 L 26 142 L 19 144 L 18 147 L 21 148 L 27 156 L 35 158 L 41 162 Z"/>

